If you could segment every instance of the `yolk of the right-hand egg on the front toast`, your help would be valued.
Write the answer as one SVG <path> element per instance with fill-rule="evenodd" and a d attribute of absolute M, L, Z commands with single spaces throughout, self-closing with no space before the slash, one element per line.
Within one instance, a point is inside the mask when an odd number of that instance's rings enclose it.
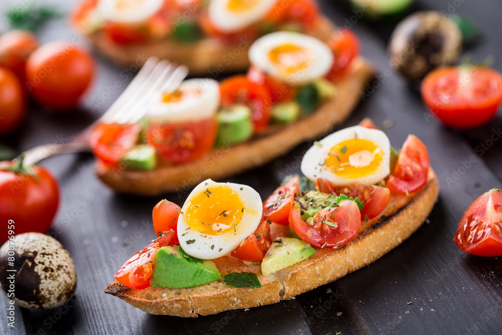
<path fill-rule="evenodd" d="M 383 150 L 373 142 L 350 139 L 331 148 L 324 166 L 341 178 L 359 178 L 373 173 L 383 159 Z"/>

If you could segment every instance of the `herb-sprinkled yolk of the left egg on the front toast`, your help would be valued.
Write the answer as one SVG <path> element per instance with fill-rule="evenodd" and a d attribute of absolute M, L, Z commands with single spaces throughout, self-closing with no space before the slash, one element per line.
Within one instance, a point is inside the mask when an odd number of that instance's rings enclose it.
<path fill-rule="evenodd" d="M 207 235 L 234 233 L 242 219 L 244 204 L 226 185 L 206 188 L 190 199 L 183 215 L 188 227 Z"/>

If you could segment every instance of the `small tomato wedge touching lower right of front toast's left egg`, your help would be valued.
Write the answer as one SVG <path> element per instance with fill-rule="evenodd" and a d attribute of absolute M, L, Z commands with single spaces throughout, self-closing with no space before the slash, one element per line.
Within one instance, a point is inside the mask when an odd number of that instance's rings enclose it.
<path fill-rule="evenodd" d="M 260 222 L 255 233 L 249 235 L 249 237 L 235 249 L 232 256 L 242 261 L 261 262 L 271 244 L 270 225 L 269 222 L 263 220 Z"/>

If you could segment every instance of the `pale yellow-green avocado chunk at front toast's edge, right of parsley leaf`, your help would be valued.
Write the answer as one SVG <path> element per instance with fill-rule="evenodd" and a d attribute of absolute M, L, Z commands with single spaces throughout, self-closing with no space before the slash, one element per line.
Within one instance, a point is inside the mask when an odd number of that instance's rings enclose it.
<path fill-rule="evenodd" d="M 264 276 L 268 276 L 314 254 L 315 250 L 310 244 L 299 239 L 283 237 L 272 243 L 267 251 L 267 255 L 262 261 L 262 273 Z"/>

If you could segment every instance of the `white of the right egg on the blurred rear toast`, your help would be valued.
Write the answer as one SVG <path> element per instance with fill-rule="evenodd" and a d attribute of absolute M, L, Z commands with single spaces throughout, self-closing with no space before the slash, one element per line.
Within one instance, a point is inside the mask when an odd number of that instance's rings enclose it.
<path fill-rule="evenodd" d="M 228 10 L 230 0 L 211 0 L 209 3 L 209 20 L 219 31 L 235 32 L 260 21 L 274 8 L 278 0 L 260 0 L 252 9 L 235 13 Z"/>

